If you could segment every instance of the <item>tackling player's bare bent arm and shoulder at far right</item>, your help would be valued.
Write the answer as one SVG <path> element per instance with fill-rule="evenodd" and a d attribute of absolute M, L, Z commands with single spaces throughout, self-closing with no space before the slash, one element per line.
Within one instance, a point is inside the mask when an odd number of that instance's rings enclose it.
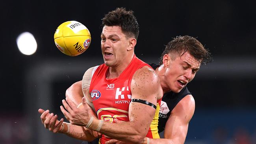
<path fill-rule="evenodd" d="M 150 144 L 184 144 L 189 121 L 195 111 L 192 95 L 185 96 L 171 112 L 165 124 L 164 138 L 150 139 Z"/>

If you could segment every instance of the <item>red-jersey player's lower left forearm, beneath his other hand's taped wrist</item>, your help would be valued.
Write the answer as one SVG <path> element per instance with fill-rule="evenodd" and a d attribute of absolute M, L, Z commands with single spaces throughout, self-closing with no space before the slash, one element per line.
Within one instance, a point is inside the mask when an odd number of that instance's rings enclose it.
<path fill-rule="evenodd" d="M 91 135 L 88 130 L 86 131 L 86 128 L 83 128 L 82 126 L 76 126 L 70 123 L 64 123 L 63 126 L 63 130 L 59 133 L 63 133 L 69 137 L 86 141 L 93 141 L 96 138 Z"/>

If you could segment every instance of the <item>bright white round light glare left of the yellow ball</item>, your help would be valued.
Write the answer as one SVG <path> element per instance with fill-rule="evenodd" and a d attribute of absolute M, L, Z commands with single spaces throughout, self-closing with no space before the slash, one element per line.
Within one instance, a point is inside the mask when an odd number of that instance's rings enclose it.
<path fill-rule="evenodd" d="M 37 50 L 37 42 L 34 36 L 29 32 L 21 33 L 17 37 L 16 42 L 20 52 L 24 55 L 32 55 Z"/>

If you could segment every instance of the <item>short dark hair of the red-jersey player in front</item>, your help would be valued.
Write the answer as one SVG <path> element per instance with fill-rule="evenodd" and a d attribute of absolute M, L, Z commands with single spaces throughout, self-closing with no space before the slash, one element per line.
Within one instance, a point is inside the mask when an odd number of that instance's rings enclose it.
<path fill-rule="evenodd" d="M 139 24 L 133 13 L 133 11 L 126 11 L 123 7 L 118 7 L 102 18 L 101 28 L 104 26 L 120 26 L 126 36 L 137 39 L 139 35 Z"/>

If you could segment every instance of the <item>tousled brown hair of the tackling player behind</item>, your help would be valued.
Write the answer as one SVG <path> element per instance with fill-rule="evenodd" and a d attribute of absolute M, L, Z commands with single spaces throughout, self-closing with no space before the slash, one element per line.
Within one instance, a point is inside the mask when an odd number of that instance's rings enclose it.
<path fill-rule="evenodd" d="M 196 38 L 185 36 L 177 36 L 172 41 L 170 41 L 165 50 L 163 51 L 159 65 L 163 64 L 163 56 L 165 54 L 178 54 L 182 56 L 185 52 L 189 52 L 197 61 L 201 64 L 210 63 L 212 61 L 211 54 L 208 49 L 199 42 Z M 174 60 L 176 57 L 171 57 Z"/>

